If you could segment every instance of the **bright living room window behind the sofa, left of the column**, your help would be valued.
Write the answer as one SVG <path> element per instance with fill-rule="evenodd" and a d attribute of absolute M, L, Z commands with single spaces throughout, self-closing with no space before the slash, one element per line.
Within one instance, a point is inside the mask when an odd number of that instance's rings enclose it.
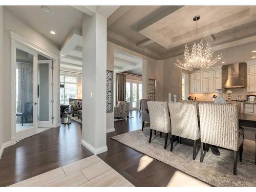
<path fill-rule="evenodd" d="M 69 98 L 76 98 L 78 74 L 60 72 L 60 104 L 69 104 Z"/>

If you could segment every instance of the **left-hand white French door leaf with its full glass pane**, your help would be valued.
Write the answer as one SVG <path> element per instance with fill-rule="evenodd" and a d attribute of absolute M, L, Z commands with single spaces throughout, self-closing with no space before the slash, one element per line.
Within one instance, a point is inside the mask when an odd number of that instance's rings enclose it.
<path fill-rule="evenodd" d="M 16 48 L 16 141 L 36 134 L 37 53 Z"/>

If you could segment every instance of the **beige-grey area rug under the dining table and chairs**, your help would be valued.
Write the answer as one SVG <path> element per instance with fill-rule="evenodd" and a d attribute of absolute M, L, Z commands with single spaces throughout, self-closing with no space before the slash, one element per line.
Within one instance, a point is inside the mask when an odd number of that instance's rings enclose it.
<path fill-rule="evenodd" d="M 233 175 L 233 152 L 219 148 L 221 155 L 215 156 L 211 150 L 205 154 L 203 163 L 200 163 L 200 143 L 197 144 L 196 160 L 193 156 L 193 141 L 183 139 L 182 144 L 174 143 L 173 152 L 170 152 L 170 140 L 164 150 L 164 137 L 159 133 L 153 134 L 151 143 L 149 127 L 144 131 L 137 130 L 112 137 L 135 150 L 153 157 L 163 163 L 173 166 L 182 172 L 198 178 L 213 186 L 256 186 L 255 142 L 244 140 L 242 162 L 237 166 L 237 176 Z"/>

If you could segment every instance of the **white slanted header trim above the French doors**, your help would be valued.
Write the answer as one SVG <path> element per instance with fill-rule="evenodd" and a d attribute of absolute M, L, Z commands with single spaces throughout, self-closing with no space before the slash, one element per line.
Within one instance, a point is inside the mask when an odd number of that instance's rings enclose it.
<path fill-rule="evenodd" d="M 47 51 L 44 48 L 41 48 L 41 47 L 37 46 L 33 42 L 30 42 L 28 39 L 20 36 L 19 34 L 13 32 L 13 31 L 9 31 L 9 32 L 10 32 L 10 35 L 11 35 L 11 39 L 14 39 L 14 40 L 16 40 L 16 41 L 18 41 L 18 42 L 20 42 L 20 43 L 22 43 L 22 44 L 32 48 L 32 49 L 34 49 L 34 50 L 36 50 L 36 51 L 38 51 L 38 52 L 40 52 L 42 54 L 45 54 L 45 55 L 51 57 L 52 59 L 55 59 L 55 60 L 59 59 L 59 56 L 57 56 L 57 55 Z"/>

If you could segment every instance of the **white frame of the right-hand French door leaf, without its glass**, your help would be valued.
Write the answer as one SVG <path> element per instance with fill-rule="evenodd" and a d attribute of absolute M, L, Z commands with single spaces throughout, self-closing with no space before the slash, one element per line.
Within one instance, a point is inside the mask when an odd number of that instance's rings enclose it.
<path fill-rule="evenodd" d="M 53 87 L 52 87 L 52 81 L 53 81 L 53 79 L 52 79 L 52 60 L 38 60 L 38 64 L 48 64 L 48 69 L 49 69 L 49 77 L 48 77 L 48 79 L 49 79 L 49 81 L 48 81 L 48 90 L 49 90 L 49 96 L 48 96 L 48 105 L 49 105 L 49 109 L 48 109 L 48 111 L 49 111 L 49 113 L 48 113 L 48 121 L 39 121 L 39 119 L 38 119 L 38 124 L 37 124 L 37 127 L 53 127 L 53 119 L 52 119 L 52 117 L 53 117 L 53 112 L 52 112 L 52 110 L 53 110 L 53 107 L 52 107 L 52 105 L 53 105 L 53 103 L 52 103 L 52 100 L 53 100 L 53 97 L 52 97 L 52 91 L 53 91 Z M 37 84 L 38 84 L 38 82 L 37 82 Z M 39 92 L 40 93 L 40 92 Z M 40 99 L 40 97 L 39 97 L 39 99 Z M 37 105 L 39 106 L 39 109 L 40 109 L 40 100 L 38 101 L 37 100 Z M 37 106 L 37 109 L 38 109 L 38 106 Z M 40 114 L 39 114 L 40 115 Z M 38 114 L 37 114 L 37 116 L 38 116 Z"/>

